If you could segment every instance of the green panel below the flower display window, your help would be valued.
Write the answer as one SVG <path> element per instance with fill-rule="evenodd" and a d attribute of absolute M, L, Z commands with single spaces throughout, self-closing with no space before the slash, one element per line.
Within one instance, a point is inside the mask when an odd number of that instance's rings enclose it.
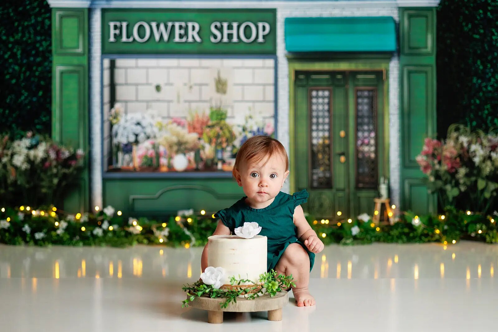
<path fill-rule="evenodd" d="M 164 217 L 188 209 L 211 215 L 244 196 L 233 179 L 104 179 L 103 190 L 104 205 L 135 217 Z"/>

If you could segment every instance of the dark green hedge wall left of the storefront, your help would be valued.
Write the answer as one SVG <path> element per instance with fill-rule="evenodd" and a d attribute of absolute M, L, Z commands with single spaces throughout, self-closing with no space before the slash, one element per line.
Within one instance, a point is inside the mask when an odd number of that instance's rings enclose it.
<path fill-rule="evenodd" d="M 1 2 L 0 132 L 13 137 L 29 130 L 50 134 L 50 7 L 46 0 Z"/>

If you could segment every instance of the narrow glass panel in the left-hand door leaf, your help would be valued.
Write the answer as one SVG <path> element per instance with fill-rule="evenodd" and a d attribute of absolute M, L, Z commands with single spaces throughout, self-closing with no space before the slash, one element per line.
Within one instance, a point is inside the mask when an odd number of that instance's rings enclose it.
<path fill-rule="evenodd" d="M 310 162 L 311 187 L 332 188 L 332 164 L 330 144 L 332 89 L 312 88 L 310 103 Z"/>

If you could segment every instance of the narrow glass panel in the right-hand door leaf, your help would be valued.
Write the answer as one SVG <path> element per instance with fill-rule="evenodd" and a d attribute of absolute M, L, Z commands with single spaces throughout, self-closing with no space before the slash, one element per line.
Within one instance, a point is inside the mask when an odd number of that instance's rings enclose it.
<path fill-rule="evenodd" d="M 356 89 L 356 185 L 377 187 L 377 91 Z"/>

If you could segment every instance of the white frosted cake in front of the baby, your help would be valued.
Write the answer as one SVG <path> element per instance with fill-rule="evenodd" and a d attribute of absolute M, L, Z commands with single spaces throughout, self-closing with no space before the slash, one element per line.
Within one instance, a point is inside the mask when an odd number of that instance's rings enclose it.
<path fill-rule="evenodd" d="M 266 248 L 266 236 L 212 235 L 208 237 L 208 266 L 225 270 L 224 285 L 239 275 L 259 283 L 259 275 L 266 272 Z"/>

